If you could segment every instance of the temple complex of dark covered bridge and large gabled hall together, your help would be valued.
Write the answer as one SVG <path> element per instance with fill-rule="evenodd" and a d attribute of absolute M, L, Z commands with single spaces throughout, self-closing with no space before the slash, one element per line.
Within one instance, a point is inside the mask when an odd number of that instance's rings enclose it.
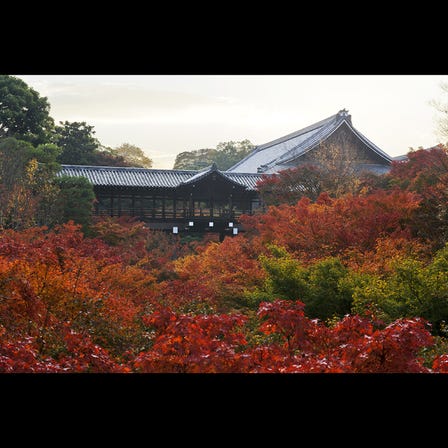
<path fill-rule="evenodd" d="M 385 173 L 393 160 L 355 129 L 343 109 L 325 120 L 256 146 L 227 171 L 62 165 L 59 175 L 86 177 L 97 198 L 95 213 L 134 216 L 173 233 L 213 231 L 236 235 L 238 217 L 262 207 L 256 184 L 263 176 L 302 164 L 318 165 L 329 151 L 358 171 Z"/>

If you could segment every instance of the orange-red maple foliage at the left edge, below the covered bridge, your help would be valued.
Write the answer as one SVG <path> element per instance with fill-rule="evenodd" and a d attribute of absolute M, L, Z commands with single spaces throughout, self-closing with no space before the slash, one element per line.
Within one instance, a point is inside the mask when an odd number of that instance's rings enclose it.
<path fill-rule="evenodd" d="M 63 322 L 111 349 L 130 342 L 154 284 L 72 223 L 0 234 L 0 322 L 10 335 L 35 337 L 42 353 L 61 351 Z"/>

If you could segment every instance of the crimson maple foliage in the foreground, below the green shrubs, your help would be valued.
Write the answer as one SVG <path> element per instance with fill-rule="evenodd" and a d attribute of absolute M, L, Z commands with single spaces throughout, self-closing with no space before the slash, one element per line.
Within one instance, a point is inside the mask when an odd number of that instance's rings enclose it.
<path fill-rule="evenodd" d="M 154 373 L 396 373 L 430 372 L 419 351 L 432 336 L 420 319 L 385 326 L 346 316 L 333 327 L 304 314 L 304 304 L 276 300 L 260 304 L 257 332 L 263 342 L 251 346 L 243 316 L 193 318 L 164 308 L 146 322 L 154 345 L 134 361 L 137 371 Z M 446 369 L 446 360 L 435 361 Z"/>

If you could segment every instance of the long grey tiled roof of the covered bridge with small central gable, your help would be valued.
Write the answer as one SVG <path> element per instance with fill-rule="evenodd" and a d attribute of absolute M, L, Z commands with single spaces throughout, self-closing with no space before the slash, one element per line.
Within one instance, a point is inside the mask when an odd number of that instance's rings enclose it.
<path fill-rule="evenodd" d="M 176 188 L 197 181 L 216 172 L 230 182 L 248 190 L 255 190 L 261 174 L 228 173 L 219 171 L 216 165 L 203 170 L 153 170 L 115 166 L 62 165 L 58 176 L 85 177 L 95 186 Z"/>

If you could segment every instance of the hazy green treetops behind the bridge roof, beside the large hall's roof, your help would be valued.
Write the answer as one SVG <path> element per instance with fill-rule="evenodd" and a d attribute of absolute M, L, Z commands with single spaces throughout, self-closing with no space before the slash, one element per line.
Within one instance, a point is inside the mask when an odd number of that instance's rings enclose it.
<path fill-rule="evenodd" d="M 176 156 L 173 169 L 200 170 L 213 162 L 219 170 L 225 171 L 246 157 L 254 148 L 249 140 L 221 142 L 216 148 L 184 151 Z"/>

